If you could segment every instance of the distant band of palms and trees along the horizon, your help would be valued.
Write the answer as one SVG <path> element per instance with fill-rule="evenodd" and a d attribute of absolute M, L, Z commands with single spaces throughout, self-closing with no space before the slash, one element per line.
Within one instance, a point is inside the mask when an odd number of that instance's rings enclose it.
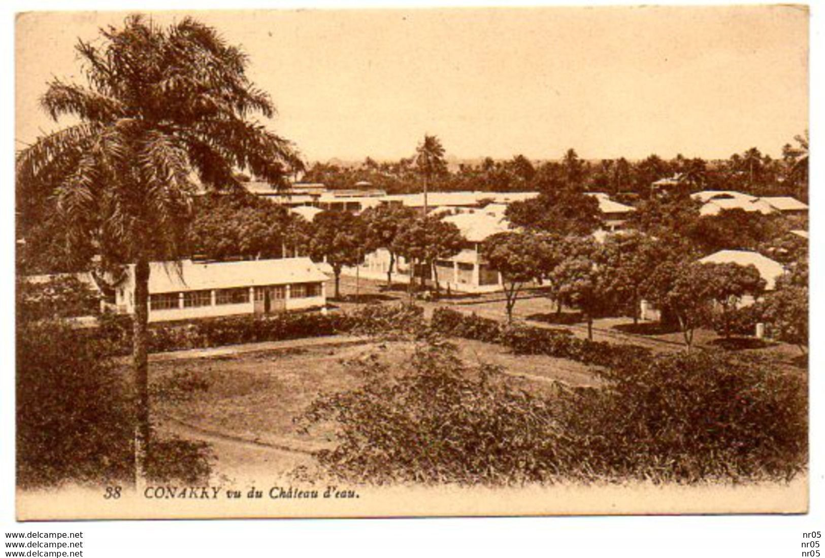
<path fill-rule="evenodd" d="M 705 160 L 681 154 L 664 159 L 652 154 L 639 161 L 625 157 L 584 160 L 571 148 L 556 161 L 530 161 L 524 155 L 507 160 L 485 157 L 477 163 L 443 165 L 429 176 L 431 190 L 545 191 L 573 188 L 646 199 L 653 182 L 676 177 L 686 190 L 740 190 L 753 195 L 793 195 L 808 198 L 808 133 L 786 143 L 782 157 L 758 148 L 733 153 L 727 159 Z M 316 162 L 303 177 L 332 189 L 352 188 L 369 182 L 391 194 L 422 190 L 417 157 L 397 162 L 377 162 L 367 157 L 356 165 Z"/>

